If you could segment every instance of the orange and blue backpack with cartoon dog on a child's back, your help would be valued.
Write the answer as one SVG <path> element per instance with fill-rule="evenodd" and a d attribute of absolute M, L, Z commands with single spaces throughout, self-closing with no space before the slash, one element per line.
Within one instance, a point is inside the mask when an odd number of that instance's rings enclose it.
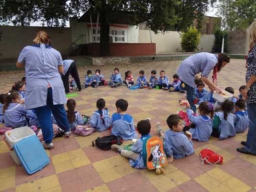
<path fill-rule="evenodd" d="M 162 167 L 168 164 L 162 141 L 158 137 L 148 137 L 143 140 L 142 156 L 148 169 L 156 169 L 156 173 L 164 173 Z"/>

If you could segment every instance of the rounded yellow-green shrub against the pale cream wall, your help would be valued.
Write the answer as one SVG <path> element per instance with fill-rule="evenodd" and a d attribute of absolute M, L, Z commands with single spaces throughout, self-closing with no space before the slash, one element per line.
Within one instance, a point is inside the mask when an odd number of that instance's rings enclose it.
<path fill-rule="evenodd" d="M 195 27 L 189 27 L 187 32 L 182 33 L 181 47 L 185 52 L 193 52 L 198 50 L 197 46 L 200 42 L 200 32 Z"/>

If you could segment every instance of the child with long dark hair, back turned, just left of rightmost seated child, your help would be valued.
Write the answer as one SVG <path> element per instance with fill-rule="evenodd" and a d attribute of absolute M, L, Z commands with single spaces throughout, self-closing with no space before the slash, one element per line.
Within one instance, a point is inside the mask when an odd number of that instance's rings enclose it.
<path fill-rule="evenodd" d="M 232 114 L 233 108 L 234 103 L 229 99 L 221 103 L 221 111 L 216 112 L 213 119 L 212 136 L 219 137 L 221 140 L 236 135 L 235 115 Z"/>

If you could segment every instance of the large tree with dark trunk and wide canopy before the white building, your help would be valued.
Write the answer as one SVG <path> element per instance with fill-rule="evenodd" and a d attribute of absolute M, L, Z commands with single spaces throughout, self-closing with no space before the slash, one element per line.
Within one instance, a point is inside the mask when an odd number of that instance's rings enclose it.
<path fill-rule="evenodd" d="M 209 4 L 216 0 L 1 0 L 0 22 L 29 25 L 44 21 L 48 26 L 64 26 L 70 16 L 88 8 L 100 13 L 100 55 L 109 55 L 111 21 L 120 11 L 133 20 L 147 20 L 152 31 L 185 31 L 193 20 L 202 18 Z M 123 16 L 126 16 L 125 14 Z"/>

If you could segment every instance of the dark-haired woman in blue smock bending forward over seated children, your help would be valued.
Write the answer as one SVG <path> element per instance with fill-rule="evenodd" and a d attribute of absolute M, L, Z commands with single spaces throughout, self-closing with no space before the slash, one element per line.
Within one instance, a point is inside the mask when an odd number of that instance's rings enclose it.
<path fill-rule="evenodd" d="M 195 75 L 201 72 L 201 80 L 209 87 L 213 87 L 216 92 L 221 93 L 221 89 L 216 84 L 211 83 L 208 77 L 213 70 L 213 81 L 216 80 L 217 72 L 220 72 L 221 68 L 229 62 L 230 57 L 225 53 L 211 54 L 204 52 L 191 55 L 182 61 L 177 70 L 177 75 L 185 84 L 187 100 L 194 112 L 196 110 L 194 104 Z"/>

